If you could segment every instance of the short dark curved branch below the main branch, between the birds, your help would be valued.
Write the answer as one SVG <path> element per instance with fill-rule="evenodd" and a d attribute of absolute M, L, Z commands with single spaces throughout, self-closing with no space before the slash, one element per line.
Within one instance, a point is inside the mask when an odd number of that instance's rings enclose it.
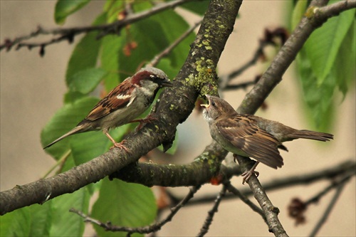
<path fill-rule="evenodd" d="M 241 174 L 238 167 L 222 167 L 221 160 L 209 157 L 225 157 L 226 150 L 219 149 L 219 145 L 210 144 L 191 164 L 152 164 L 135 163 L 110 174 L 110 179 L 122 179 L 145 186 L 196 186 L 209 182 L 211 177 L 219 175 L 226 179 L 234 174 Z"/>

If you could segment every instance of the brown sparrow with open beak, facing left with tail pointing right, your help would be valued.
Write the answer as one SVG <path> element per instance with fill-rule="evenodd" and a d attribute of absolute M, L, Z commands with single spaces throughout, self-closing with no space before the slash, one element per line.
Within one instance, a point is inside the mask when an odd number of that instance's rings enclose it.
<path fill-rule="evenodd" d="M 259 162 L 274 169 L 282 167 L 283 158 L 278 148 L 288 152 L 282 142 L 297 138 L 323 142 L 333 139 L 333 135 L 328 133 L 295 130 L 262 117 L 239 115 L 225 100 L 211 95 L 205 96 L 209 104 L 201 106 L 204 107 L 204 120 L 209 124 L 211 137 L 229 152 L 257 161 L 248 172 L 241 175 L 243 184 L 252 174 L 258 176 L 258 172 L 254 170 Z"/>

